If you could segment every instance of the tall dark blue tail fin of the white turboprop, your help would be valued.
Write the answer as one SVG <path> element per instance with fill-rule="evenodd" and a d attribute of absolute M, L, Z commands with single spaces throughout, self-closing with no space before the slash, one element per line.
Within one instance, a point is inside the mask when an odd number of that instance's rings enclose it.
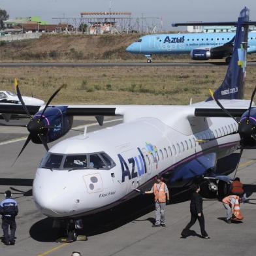
<path fill-rule="evenodd" d="M 225 78 L 214 92 L 216 99 L 243 99 L 244 84 L 246 81 L 246 55 L 248 47 L 249 9 L 244 8 L 236 23 L 236 35 L 231 61 Z M 212 97 L 206 101 L 212 101 Z"/>

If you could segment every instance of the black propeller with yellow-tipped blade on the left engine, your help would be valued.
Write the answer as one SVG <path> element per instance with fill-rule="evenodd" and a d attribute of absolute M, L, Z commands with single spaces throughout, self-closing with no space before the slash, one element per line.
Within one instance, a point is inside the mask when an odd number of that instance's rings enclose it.
<path fill-rule="evenodd" d="M 42 142 L 42 144 L 44 145 L 44 148 L 46 149 L 46 151 L 49 150 L 48 145 L 47 145 L 47 140 L 46 140 L 46 134 L 48 133 L 48 129 L 53 129 L 54 127 L 51 127 L 50 125 L 46 125 L 46 123 L 44 122 L 44 118 L 45 118 L 44 112 L 45 112 L 46 108 L 48 108 L 49 104 L 54 99 L 54 97 L 57 95 L 57 93 L 63 88 L 64 84 L 62 86 L 60 86 L 52 94 L 50 99 L 48 99 L 48 102 L 44 106 L 44 109 L 42 110 L 42 113 L 40 114 L 40 116 L 39 117 L 34 116 L 34 118 L 31 117 L 31 115 L 29 114 L 29 110 L 27 110 L 27 106 L 25 106 L 25 103 L 22 99 L 22 94 L 20 93 L 18 80 L 16 78 L 14 80 L 14 86 L 16 88 L 18 99 L 20 100 L 22 107 L 24 108 L 25 112 L 27 113 L 27 116 L 29 116 L 29 119 L 30 119 L 29 123 L 27 123 L 27 125 L 25 125 L 25 127 L 27 127 L 27 130 L 29 131 L 29 135 L 27 136 L 27 140 L 25 141 L 24 146 L 22 147 L 22 150 L 20 150 L 20 153 L 18 154 L 18 156 L 16 157 L 16 159 L 14 161 L 14 163 L 16 163 L 16 161 L 18 160 L 18 158 L 24 151 L 27 144 L 29 144 L 30 140 L 37 140 L 39 138 L 40 141 Z M 14 163 L 12 164 L 12 166 L 14 165 Z"/>

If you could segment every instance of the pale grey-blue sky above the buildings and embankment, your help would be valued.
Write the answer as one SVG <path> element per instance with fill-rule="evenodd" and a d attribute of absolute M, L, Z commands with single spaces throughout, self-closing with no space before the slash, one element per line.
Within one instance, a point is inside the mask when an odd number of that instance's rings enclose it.
<path fill-rule="evenodd" d="M 39 15 L 54 23 L 54 17 L 79 17 L 80 12 L 108 11 L 109 0 L 0 0 L 10 18 Z M 112 11 L 130 11 L 132 16 L 163 18 L 165 30 L 173 22 L 234 21 L 244 6 L 256 20 L 255 0 L 111 0 Z"/>

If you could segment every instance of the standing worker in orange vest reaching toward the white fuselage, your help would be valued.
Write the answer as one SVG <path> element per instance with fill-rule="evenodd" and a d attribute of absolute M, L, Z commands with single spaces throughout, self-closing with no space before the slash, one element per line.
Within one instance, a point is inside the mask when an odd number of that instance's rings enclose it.
<path fill-rule="evenodd" d="M 150 191 L 145 191 L 145 194 L 155 195 L 155 224 L 152 227 L 166 227 L 165 225 L 165 206 L 170 201 L 168 187 L 163 182 L 163 178 L 158 174 L 157 181 L 153 184 Z"/>

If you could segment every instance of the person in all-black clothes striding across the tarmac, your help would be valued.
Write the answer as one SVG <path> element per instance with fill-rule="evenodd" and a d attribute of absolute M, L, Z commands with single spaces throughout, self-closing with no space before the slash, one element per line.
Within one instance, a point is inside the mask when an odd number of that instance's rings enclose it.
<path fill-rule="evenodd" d="M 198 219 L 202 234 L 201 238 L 210 239 L 210 237 L 208 236 L 207 232 L 204 229 L 204 214 L 202 212 L 202 197 L 199 195 L 199 185 L 194 185 L 192 191 L 193 193 L 190 202 L 191 219 L 190 222 L 185 227 L 185 229 L 182 231 L 182 238 L 186 238 L 188 236 L 189 229 L 195 224 L 195 222 Z"/>

